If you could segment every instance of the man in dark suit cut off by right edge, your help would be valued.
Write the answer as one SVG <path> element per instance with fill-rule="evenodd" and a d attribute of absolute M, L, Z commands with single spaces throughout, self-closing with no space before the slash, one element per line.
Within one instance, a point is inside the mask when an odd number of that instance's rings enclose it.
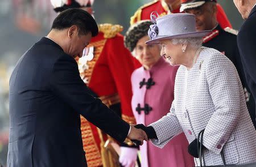
<path fill-rule="evenodd" d="M 233 0 L 245 19 L 237 37 L 245 78 L 256 100 L 256 0 Z M 255 101 L 256 104 L 256 101 Z"/>

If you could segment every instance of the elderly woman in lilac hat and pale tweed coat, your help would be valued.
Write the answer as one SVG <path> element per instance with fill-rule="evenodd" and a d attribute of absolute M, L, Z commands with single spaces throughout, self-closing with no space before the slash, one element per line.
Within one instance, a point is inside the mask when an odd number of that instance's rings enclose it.
<path fill-rule="evenodd" d="M 162 45 L 161 55 L 180 67 L 170 113 L 147 127 L 136 127 L 159 148 L 184 132 L 197 166 L 256 166 L 256 131 L 233 63 L 217 50 L 201 46 L 201 37 L 209 31 L 196 32 L 195 15 L 155 18 L 151 15 L 155 24 L 150 25 L 146 44 Z"/>

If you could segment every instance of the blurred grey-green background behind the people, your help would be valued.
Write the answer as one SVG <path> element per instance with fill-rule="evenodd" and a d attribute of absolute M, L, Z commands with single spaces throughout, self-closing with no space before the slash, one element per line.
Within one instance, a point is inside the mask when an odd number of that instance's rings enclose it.
<path fill-rule="evenodd" d="M 96 0 L 93 8 L 98 23 L 121 24 L 122 34 L 129 28 L 130 16 L 148 0 Z M 218 0 L 234 29 L 242 25 L 233 1 Z M 0 163 L 6 165 L 9 137 L 9 78 L 24 52 L 46 36 L 56 13 L 50 0 L 0 1 Z"/>

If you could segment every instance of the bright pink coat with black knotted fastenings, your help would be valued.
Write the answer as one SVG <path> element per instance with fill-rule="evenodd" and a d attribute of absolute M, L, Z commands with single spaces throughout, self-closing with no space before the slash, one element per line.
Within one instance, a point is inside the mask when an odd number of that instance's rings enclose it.
<path fill-rule="evenodd" d="M 159 61 L 150 69 L 145 70 L 143 67 L 138 68 L 131 75 L 131 84 L 133 89 L 133 97 L 131 105 L 137 123 L 149 125 L 166 115 L 171 107 L 174 99 L 174 80 L 177 66 L 172 67 L 160 58 Z M 152 78 L 154 85 L 149 89 L 146 85 L 140 87 L 143 78 L 145 82 Z M 138 104 L 144 108 L 148 104 L 148 108 L 152 108 L 148 114 L 144 110 L 139 114 L 136 110 Z M 166 145 L 163 149 L 157 148 L 151 142 L 145 142 L 141 147 L 142 167 L 150 166 L 171 166 L 171 167 L 187 167 L 193 166 L 194 162 L 187 152 L 188 142 L 182 133 L 176 136 L 174 140 Z"/>

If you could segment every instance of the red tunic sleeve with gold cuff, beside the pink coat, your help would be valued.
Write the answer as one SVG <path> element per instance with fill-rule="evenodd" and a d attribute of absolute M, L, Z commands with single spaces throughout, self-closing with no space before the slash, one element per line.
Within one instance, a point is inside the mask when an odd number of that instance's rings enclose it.
<path fill-rule="evenodd" d="M 134 71 L 133 57 L 123 45 L 123 36 L 117 35 L 106 42 L 108 64 L 121 100 L 122 118 L 126 122 L 135 123 L 131 110 L 131 73 Z"/>

